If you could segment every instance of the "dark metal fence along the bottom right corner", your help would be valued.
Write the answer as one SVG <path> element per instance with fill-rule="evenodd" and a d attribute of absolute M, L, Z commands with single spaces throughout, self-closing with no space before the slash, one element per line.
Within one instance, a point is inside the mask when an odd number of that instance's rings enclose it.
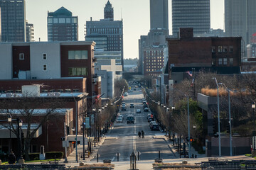
<path fill-rule="evenodd" d="M 219 161 L 219 162 L 202 162 L 202 170 L 206 169 L 256 169 L 256 161 Z"/>

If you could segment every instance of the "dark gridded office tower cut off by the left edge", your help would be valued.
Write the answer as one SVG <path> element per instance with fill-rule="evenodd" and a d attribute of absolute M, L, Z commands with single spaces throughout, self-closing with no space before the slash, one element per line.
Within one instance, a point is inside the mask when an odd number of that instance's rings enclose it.
<path fill-rule="evenodd" d="M 25 0 L 0 0 L 1 41 L 26 41 Z"/>

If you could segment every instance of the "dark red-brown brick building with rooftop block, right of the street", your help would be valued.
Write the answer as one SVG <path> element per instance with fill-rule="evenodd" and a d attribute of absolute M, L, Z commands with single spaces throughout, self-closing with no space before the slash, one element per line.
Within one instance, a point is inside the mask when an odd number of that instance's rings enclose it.
<path fill-rule="evenodd" d="M 178 38 L 167 38 L 169 78 L 178 83 L 178 72 L 204 69 L 218 74 L 240 73 L 241 37 L 193 37 L 193 28 L 180 28 Z"/>

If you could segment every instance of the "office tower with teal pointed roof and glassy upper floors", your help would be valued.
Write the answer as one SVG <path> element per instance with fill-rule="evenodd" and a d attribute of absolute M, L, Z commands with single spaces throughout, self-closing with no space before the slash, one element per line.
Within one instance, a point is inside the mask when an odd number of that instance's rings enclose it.
<path fill-rule="evenodd" d="M 55 12 L 48 12 L 48 41 L 77 41 L 78 16 L 63 6 Z"/>

